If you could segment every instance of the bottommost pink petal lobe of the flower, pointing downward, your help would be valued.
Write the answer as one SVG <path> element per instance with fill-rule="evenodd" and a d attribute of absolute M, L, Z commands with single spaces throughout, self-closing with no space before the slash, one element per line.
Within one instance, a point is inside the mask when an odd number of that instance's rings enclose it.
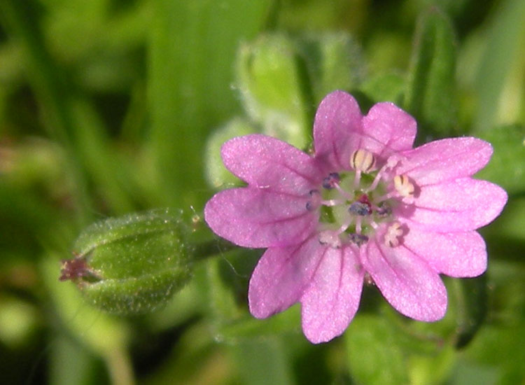
<path fill-rule="evenodd" d="M 356 314 L 364 270 L 356 248 L 326 248 L 311 285 L 301 297 L 302 330 L 314 344 L 341 335 Z"/>

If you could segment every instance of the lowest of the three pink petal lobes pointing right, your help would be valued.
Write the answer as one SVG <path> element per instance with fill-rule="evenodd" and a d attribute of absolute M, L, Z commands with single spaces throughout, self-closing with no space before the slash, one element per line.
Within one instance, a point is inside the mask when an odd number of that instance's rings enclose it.
<path fill-rule="evenodd" d="M 438 233 L 411 228 L 402 244 L 438 273 L 472 277 L 486 270 L 485 241 L 475 231 Z"/>

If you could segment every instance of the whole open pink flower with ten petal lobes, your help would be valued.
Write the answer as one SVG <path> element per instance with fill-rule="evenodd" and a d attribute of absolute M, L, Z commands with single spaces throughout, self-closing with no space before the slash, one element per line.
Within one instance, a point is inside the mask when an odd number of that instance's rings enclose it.
<path fill-rule="evenodd" d="M 400 313 L 437 321 L 447 310 L 439 274 L 485 271 L 475 230 L 507 202 L 502 188 L 472 179 L 491 145 L 462 137 L 412 148 L 415 135 L 397 106 L 362 116 L 335 91 L 317 110 L 313 157 L 258 134 L 223 145 L 225 166 L 248 186 L 217 193 L 204 215 L 221 237 L 267 248 L 250 280 L 253 316 L 301 302 L 304 335 L 326 342 L 356 314 L 366 276 Z"/>

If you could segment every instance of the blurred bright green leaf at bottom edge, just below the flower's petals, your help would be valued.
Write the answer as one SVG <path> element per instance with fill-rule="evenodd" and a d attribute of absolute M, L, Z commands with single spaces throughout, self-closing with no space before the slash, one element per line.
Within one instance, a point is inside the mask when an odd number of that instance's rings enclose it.
<path fill-rule="evenodd" d="M 419 331 L 421 324 L 358 314 L 345 332 L 351 376 L 367 385 L 442 384 L 454 367 L 454 346 Z"/>

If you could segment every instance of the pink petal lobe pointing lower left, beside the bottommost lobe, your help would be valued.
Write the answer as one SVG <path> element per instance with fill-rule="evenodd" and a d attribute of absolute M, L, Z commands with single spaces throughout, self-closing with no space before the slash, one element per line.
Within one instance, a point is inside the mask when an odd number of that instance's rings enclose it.
<path fill-rule="evenodd" d="M 317 237 L 310 237 L 299 245 L 268 248 L 250 279 L 251 314 L 266 318 L 297 302 L 326 250 Z"/>

